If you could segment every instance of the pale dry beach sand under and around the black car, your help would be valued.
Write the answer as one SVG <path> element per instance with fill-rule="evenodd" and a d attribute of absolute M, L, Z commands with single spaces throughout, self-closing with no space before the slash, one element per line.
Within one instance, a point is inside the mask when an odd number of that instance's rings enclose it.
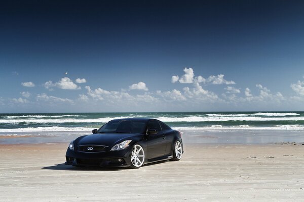
<path fill-rule="evenodd" d="M 186 144 L 179 162 L 65 166 L 67 144 L 0 145 L 0 201 L 304 201 L 304 145 Z"/>

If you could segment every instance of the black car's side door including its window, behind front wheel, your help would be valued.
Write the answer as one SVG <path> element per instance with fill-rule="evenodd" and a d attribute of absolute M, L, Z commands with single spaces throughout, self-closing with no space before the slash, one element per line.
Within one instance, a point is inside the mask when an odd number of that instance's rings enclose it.
<path fill-rule="evenodd" d="M 151 120 L 147 124 L 147 130 L 156 129 L 157 134 L 147 136 L 147 159 L 154 159 L 165 155 L 167 140 L 157 120 Z"/>

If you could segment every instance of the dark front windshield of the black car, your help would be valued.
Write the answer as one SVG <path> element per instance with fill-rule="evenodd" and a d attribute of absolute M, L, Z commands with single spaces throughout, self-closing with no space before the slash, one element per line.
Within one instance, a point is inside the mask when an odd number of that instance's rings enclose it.
<path fill-rule="evenodd" d="M 143 121 L 111 121 L 96 133 L 143 133 L 145 127 L 146 123 Z"/>

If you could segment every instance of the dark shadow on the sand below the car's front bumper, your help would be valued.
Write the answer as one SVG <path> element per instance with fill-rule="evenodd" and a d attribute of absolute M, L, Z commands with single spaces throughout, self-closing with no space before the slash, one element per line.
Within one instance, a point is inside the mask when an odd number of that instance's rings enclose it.
<path fill-rule="evenodd" d="M 65 164 L 55 164 L 54 166 L 42 167 L 47 170 L 66 170 L 66 171 L 119 171 L 128 168 L 112 168 L 112 167 L 74 167 Z"/>

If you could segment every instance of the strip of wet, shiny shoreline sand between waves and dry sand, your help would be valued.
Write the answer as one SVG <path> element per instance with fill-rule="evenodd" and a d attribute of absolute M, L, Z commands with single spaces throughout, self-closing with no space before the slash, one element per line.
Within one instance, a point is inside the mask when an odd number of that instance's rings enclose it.
<path fill-rule="evenodd" d="M 183 142 L 200 144 L 269 144 L 304 142 L 304 130 L 179 130 Z M 42 131 L 0 133 L 0 145 L 65 142 L 91 131 Z"/>

